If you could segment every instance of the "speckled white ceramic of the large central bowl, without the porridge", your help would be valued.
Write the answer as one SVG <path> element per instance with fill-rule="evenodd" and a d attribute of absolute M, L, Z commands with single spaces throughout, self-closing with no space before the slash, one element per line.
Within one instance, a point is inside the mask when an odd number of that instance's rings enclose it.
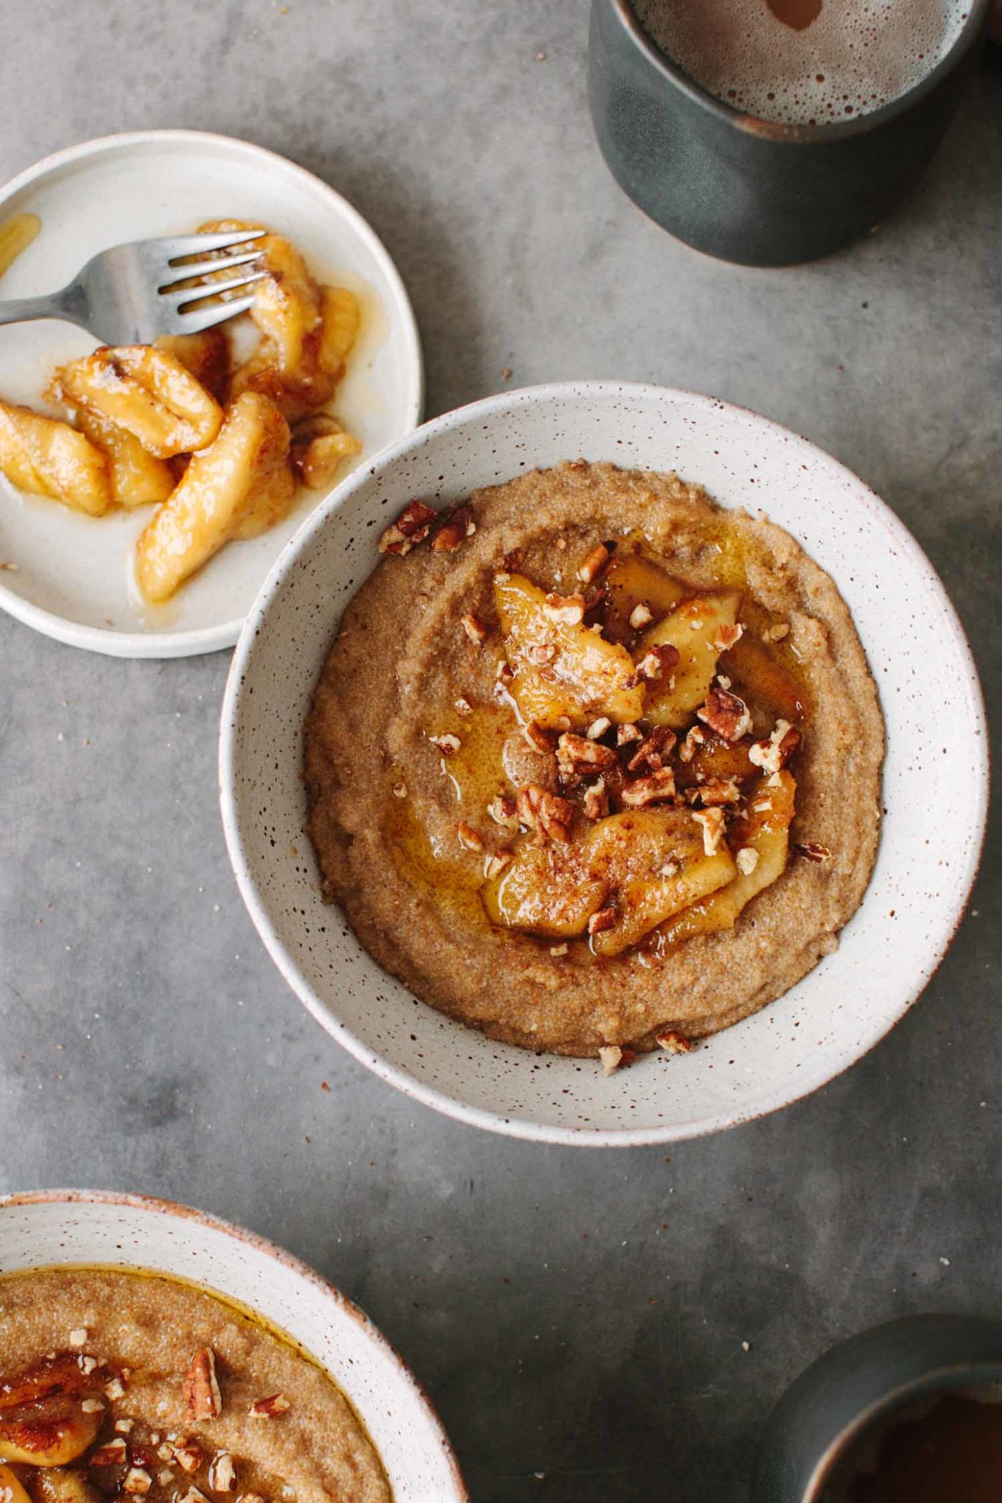
<path fill-rule="evenodd" d="M 320 902 L 300 779 L 309 694 L 344 604 L 376 564 L 380 528 L 413 496 L 454 502 L 578 455 L 678 469 L 724 505 L 762 508 L 795 534 L 853 612 L 888 726 L 880 854 L 837 953 L 691 1055 L 643 1058 L 608 1079 L 593 1061 L 493 1043 L 385 975 L 341 911 Z M 949 600 L 915 540 L 855 475 L 727 403 L 589 382 L 451 412 L 380 454 L 311 517 L 237 645 L 219 780 L 251 917 L 335 1039 L 383 1079 L 464 1121 L 550 1142 L 634 1144 L 784 1106 L 897 1022 L 942 959 L 970 890 L 987 745 L 975 667 Z"/>

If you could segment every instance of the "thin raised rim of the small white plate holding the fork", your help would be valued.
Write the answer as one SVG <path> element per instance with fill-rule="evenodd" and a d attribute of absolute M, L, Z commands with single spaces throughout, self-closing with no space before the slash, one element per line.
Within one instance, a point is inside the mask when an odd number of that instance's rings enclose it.
<path fill-rule="evenodd" d="M 231 150 L 240 156 L 261 161 L 272 171 L 284 173 L 287 177 L 296 180 L 303 192 L 323 191 L 352 233 L 359 237 L 373 256 L 373 260 L 386 278 L 392 302 L 400 313 L 404 343 L 403 355 L 407 365 L 407 385 L 410 388 L 407 392 L 407 433 L 404 436 L 413 433 L 421 422 L 425 403 L 424 355 L 415 310 L 397 263 L 373 225 L 355 204 L 349 203 L 337 188 L 332 188 L 317 173 L 300 167 L 299 162 L 291 161 L 288 156 L 282 156 L 281 152 L 272 152 L 266 146 L 258 146 L 257 141 L 246 141 L 240 135 L 227 135 L 222 131 L 165 128 L 96 135 L 92 140 L 65 146 L 59 152 L 50 152 L 48 156 L 42 156 L 38 162 L 11 177 L 9 182 L 2 183 L 0 212 L 15 194 L 24 188 L 30 188 L 38 179 L 53 171 L 86 161 L 90 156 L 102 156 L 107 152 L 128 150 L 129 147 L 156 147 L 159 143 L 186 146 L 192 152 L 206 146 Z M 48 610 L 45 606 L 36 606 L 35 601 L 26 600 L 5 585 L 2 579 L 0 609 L 6 610 L 15 621 L 21 621 L 26 627 L 32 627 L 33 631 L 41 631 L 56 642 L 63 642 L 72 648 L 84 648 L 90 652 L 102 652 L 105 657 L 122 658 L 201 657 L 206 652 L 218 652 L 221 648 L 234 645 L 246 619 L 234 616 L 231 621 L 221 621 L 212 627 L 195 627 L 189 631 L 176 633 L 113 631 L 105 627 L 90 627 L 86 622 L 71 621 L 68 616 L 60 616 L 59 612 Z"/>

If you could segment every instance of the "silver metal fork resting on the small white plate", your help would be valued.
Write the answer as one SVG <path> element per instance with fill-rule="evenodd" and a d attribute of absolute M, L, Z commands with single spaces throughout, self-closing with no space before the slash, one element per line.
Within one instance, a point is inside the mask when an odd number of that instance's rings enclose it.
<path fill-rule="evenodd" d="M 216 256 L 176 265 L 186 257 L 228 251 L 260 239 L 266 230 L 219 231 L 218 234 L 176 234 L 165 240 L 134 240 L 113 245 L 92 257 L 84 269 L 62 292 L 48 298 L 17 298 L 0 302 L 0 323 L 24 323 L 30 319 L 63 319 L 78 323 L 102 344 L 150 344 L 158 334 L 198 334 L 225 319 L 246 313 L 254 293 L 221 299 L 249 287 L 267 275 L 264 271 L 239 272 L 228 281 L 212 281 L 192 287 L 192 278 L 216 277 L 251 266 L 257 249 L 239 256 Z M 216 299 L 206 302 L 206 299 Z M 185 311 L 188 304 L 198 307 Z"/>

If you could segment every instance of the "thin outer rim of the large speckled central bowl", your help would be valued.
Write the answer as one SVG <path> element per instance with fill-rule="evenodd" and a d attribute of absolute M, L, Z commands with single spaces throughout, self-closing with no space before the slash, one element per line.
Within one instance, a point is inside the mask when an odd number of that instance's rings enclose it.
<path fill-rule="evenodd" d="M 242 681 L 246 675 L 246 667 L 249 657 L 254 651 L 257 637 L 261 630 L 264 630 L 264 622 L 267 618 L 269 606 L 272 598 L 284 585 L 287 576 L 291 573 L 299 555 L 309 546 L 314 535 L 327 523 L 332 513 L 338 511 L 346 502 L 361 490 L 365 484 L 386 469 L 388 464 L 394 463 L 400 457 L 406 455 L 409 449 L 419 448 L 428 442 L 433 442 L 439 434 L 448 433 L 452 428 L 463 427 L 466 424 L 476 422 L 481 418 L 493 416 L 497 412 L 517 413 L 518 409 L 532 406 L 539 401 L 553 400 L 619 400 L 635 398 L 635 400 L 664 400 L 664 398 L 682 398 L 688 403 L 705 404 L 714 407 L 715 410 L 726 410 L 729 413 L 738 413 L 742 418 L 751 418 L 759 424 L 763 424 L 775 436 L 783 439 L 793 439 L 798 445 L 805 446 L 813 454 L 825 460 L 826 464 L 835 466 L 843 475 L 846 475 L 853 485 L 855 493 L 862 507 L 874 517 L 880 526 L 891 534 L 894 546 L 907 556 L 912 568 L 925 580 L 925 583 L 939 595 L 942 610 L 943 610 L 943 625 L 949 630 L 957 654 L 964 667 L 964 687 L 970 705 L 970 715 L 978 727 L 978 786 L 975 791 L 975 809 L 972 815 L 972 831 L 975 839 L 972 840 L 970 854 L 967 860 L 966 870 L 960 875 L 957 884 L 952 888 L 952 894 L 948 903 L 943 903 L 943 921 L 942 933 L 939 942 L 936 944 L 934 953 L 930 957 L 928 972 L 921 980 L 916 990 L 909 990 L 909 995 L 903 995 L 894 1015 L 882 1024 L 879 1031 L 873 1034 L 864 1048 L 855 1049 L 852 1054 L 846 1055 L 840 1052 L 837 1063 L 832 1066 L 825 1066 L 825 1069 L 807 1076 L 799 1076 L 796 1082 L 786 1082 L 784 1088 L 775 1088 L 768 1093 L 765 1100 L 756 1102 L 747 1109 L 732 1108 L 715 1112 L 711 1117 L 699 1120 L 697 1123 L 681 1123 L 681 1124 L 665 1124 L 659 1127 L 560 1127 L 547 1123 L 536 1123 L 526 1117 L 505 1117 L 499 1112 L 488 1111 L 481 1106 L 470 1106 L 466 1102 L 458 1100 L 455 1096 L 448 1096 L 434 1087 L 425 1085 L 412 1076 L 407 1070 L 400 1066 L 392 1064 L 389 1060 L 383 1058 L 370 1045 L 359 1039 L 344 1022 L 341 1022 L 332 1009 L 324 1003 L 320 995 L 312 989 L 306 977 L 302 974 L 291 954 L 285 950 L 285 945 L 278 936 L 278 932 L 267 914 L 264 902 L 258 897 L 257 884 L 251 873 L 249 860 L 243 846 L 240 821 L 237 818 L 237 798 L 236 798 L 236 723 L 240 714 L 240 699 L 242 699 Z M 742 407 L 738 403 L 724 401 L 720 397 L 711 397 L 705 392 L 685 391 L 675 386 L 658 386 L 653 382 L 616 382 L 616 380 L 581 380 L 581 382 L 547 382 L 536 386 L 523 386 L 515 391 L 497 392 L 493 397 L 484 397 L 479 401 L 466 403 L 461 407 L 454 407 L 449 412 L 433 418 L 430 422 L 422 424 L 415 428 L 413 433 L 406 434 L 397 443 L 388 445 L 380 454 L 362 469 L 352 473 L 335 491 L 327 496 L 327 499 L 303 522 L 302 528 L 288 540 L 282 553 L 275 561 L 267 579 L 261 585 L 261 589 L 248 612 L 243 630 L 237 640 L 233 660 L 230 663 L 230 672 L 227 675 L 227 684 L 222 696 L 222 706 L 219 715 L 219 747 L 218 747 L 218 779 L 219 779 L 219 807 L 222 816 L 222 830 L 227 843 L 227 854 L 230 857 L 230 864 L 240 890 L 240 896 L 246 905 L 251 915 L 251 921 L 257 929 L 266 950 L 269 951 L 272 960 L 278 966 L 285 983 L 299 998 L 299 1001 L 308 1009 L 309 1013 L 317 1019 L 317 1022 L 341 1043 L 349 1054 L 352 1054 L 361 1064 L 367 1066 L 377 1075 L 382 1081 L 389 1085 L 397 1087 L 406 1096 L 413 1100 L 421 1102 L 425 1106 L 431 1106 L 434 1111 L 443 1112 L 446 1117 L 452 1117 L 457 1121 L 466 1123 L 473 1127 L 482 1127 L 488 1132 L 497 1132 L 512 1138 L 521 1138 L 532 1142 L 559 1144 L 563 1147 L 640 1147 L 653 1145 L 662 1142 L 681 1142 L 690 1138 L 702 1138 L 712 1132 L 723 1132 L 729 1127 L 741 1126 L 745 1121 L 754 1121 L 760 1117 L 766 1117 L 774 1111 L 780 1111 L 786 1106 L 792 1106 L 795 1102 L 804 1100 L 813 1091 L 820 1090 L 829 1081 L 834 1081 L 850 1066 L 862 1060 L 870 1051 L 891 1033 L 891 1030 L 901 1021 L 904 1013 L 909 1010 L 912 1003 L 921 996 L 925 987 L 930 984 L 931 977 L 942 963 L 946 951 L 949 950 L 957 929 L 963 920 L 967 899 L 973 887 L 975 876 L 978 873 L 978 866 L 981 863 L 981 852 L 985 839 L 985 825 L 988 815 L 988 730 L 984 708 L 984 696 L 981 690 L 981 681 L 978 678 L 978 670 L 975 666 L 975 658 L 970 651 L 970 645 L 964 636 L 964 630 L 960 624 L 957 610 L 946 594 L 946 589 L 939 579 L 939 574 L 928 561 L 925 552 L 919 543 L 912 537 L 904 523 L 897 517 L 897 514 L 888 507 L 886 502 L 880 500 L 874 490 L 865 484 L 853 470 L 837 460 L 834 455 L 828 454 L 819 445 L 805 439 L 802 434 L 796 433 L 793 428 L 787 428 L 784 424 L 777 422 L 772 418 L 766 418 L 751 407 Z M 868 900 L 870 888 L 862 897 L 862 905 Z M 425 1004 L 422 1004 L 425 1006 Z M 527 1060 L 535 1060 L 532 1051 L 521 1051 Z"/>

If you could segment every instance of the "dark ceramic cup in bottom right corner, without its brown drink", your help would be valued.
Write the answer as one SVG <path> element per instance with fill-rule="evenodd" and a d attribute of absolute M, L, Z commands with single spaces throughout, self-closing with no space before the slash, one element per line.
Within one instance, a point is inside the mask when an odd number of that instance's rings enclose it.
<path fill-rule="evenodd" d="M 874 1420 L 915 1399 L 976 1387 L 1002 1387 L 1002 1321 L 912 1315 L 853 1336 L 819 1357 L 774 1408 L 751 1503 L 823 1503 L 832 1471 Z"/>

